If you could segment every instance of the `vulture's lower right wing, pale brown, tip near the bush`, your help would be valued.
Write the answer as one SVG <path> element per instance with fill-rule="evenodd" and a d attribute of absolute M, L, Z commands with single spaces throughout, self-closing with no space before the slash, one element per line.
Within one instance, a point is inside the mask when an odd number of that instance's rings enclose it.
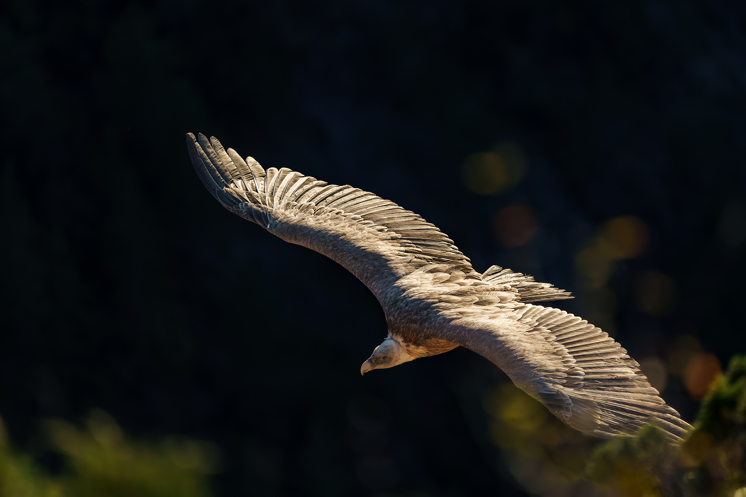
<path fill-rule="evenodd" d="M 627 350 L 580 317 L 531 304 L 512 313 L 482 306 L 462 309 L 453 324 L 438 338 L 485 356 L 583 433 L 609 438 L 653 423 L 680 442 L 690 428 Z"/>

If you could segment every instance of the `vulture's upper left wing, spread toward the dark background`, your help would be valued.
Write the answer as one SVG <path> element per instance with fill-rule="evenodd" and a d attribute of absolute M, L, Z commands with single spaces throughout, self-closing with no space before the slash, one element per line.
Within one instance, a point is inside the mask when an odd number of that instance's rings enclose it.
<path fill-rule="evenodd" d="M 244 160 L 231 148 L 225 151 L 214 137 L 189 133 L 186 143 L 204 186 L 223 206 L 286 241 L 334 259 L 374 294 L 390 278 L 433 263 L 480 281 L 448 236 L 390 200 L 287 168 L 265 170 L 251 157 Z"/>

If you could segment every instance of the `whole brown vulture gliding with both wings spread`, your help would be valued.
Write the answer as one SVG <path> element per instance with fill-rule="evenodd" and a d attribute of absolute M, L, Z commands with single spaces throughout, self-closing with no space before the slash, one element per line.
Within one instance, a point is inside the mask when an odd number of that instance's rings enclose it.
<path fill-rule="evenodd" d="M 389 333 L 360 373 L 464 346 L 495 363 L 562 422 L 592 437 L 689 424 L 601 329 L 557 308 L 570 294 L 492 266 L 477 273 L 433 224 L 390 200 L 288 168 L 264 169 L 212 137 L 186 138 L 204 186 L 226 209 L 338 262 L 377 297 Z"/>

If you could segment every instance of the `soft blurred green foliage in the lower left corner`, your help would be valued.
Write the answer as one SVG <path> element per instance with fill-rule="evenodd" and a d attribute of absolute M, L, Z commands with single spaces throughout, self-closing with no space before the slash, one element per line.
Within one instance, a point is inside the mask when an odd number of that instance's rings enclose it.
<path fill-rule="evenodd" d="M 0 497 L 208 497 L 207 475 L 216 452 L 186 438 L 131 440 L 104 411 L 93 411 L 85 429 L 46 422 L 51 446 L 65 470 L 51 475 L 30 455 L 16 452 L 0 431 Z"/>

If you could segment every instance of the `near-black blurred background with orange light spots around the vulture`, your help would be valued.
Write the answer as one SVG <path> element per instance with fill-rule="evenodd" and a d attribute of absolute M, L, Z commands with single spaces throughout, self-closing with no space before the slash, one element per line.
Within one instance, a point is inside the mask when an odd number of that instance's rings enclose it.
<path fill-rule="evenodd" d="M 745 54 L 732 0 L 4 2 L 12 439 L 54 466 L 40 420 L 101 408 L 214 443 L 217 496 L 527 495 L 507 378 L 464 349 L 361 378 L 377 301 L 223 209 L 188 131 L 572 291 L 691 421 L 746 349 Z"/>

